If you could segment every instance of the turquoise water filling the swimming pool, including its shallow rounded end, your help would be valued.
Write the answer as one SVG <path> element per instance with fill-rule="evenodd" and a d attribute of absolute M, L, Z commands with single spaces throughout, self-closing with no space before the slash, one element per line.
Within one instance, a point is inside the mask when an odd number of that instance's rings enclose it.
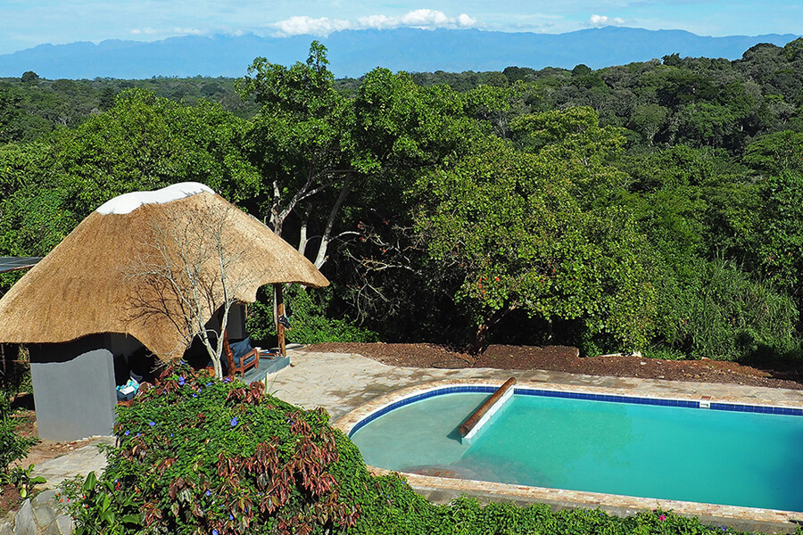
<path fill-rule="evenodd" d="M 352 433 L 368 465 L 642 498 L 803 511 L 803 417 L 516 395 L 471 445 L 486 393 L 394 409 Z"/>

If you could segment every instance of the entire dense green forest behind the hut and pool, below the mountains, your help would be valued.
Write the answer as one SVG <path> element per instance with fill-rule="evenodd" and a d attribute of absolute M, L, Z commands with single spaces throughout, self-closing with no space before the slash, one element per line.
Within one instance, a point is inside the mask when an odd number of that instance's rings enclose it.
<path fill-rule="evenodd" d="M 28 73 L 0 84 L 0 254 L 45 254 L 115 194 L 195 180 L 333 282 L 288 294 L 297 342 L 794 357 L 801 51 L 335 80 L 313 43 L 236 84 Z"/>

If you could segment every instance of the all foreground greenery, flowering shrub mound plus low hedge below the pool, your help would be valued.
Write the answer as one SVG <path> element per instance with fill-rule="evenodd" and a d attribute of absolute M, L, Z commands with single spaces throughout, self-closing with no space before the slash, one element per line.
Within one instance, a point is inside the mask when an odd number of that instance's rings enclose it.
<path fill-rule="evenodd" d="M 696 518 L 662 511 L 626 518 L 552 512 L 539 504 L 426 501 L 396 475 L 368 473 L 351 440 L 322 409 L 302 411 L 262 386 L 165 370 L 120 408 L 100 478 L 62 495 L 77 533 L 492 533 L 715 534 Z"/>

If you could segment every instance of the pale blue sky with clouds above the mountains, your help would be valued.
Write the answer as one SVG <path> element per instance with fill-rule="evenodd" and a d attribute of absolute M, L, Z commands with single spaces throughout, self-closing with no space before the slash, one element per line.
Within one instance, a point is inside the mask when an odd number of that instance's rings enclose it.
<path fill-rule="evenodd" d="M 800 0 L 0 0 L 0 53 L 43 43 L 261 36 L 339 29 L 476 28 L 563 33 L 600 26 L 701 36 L 799 34 Z"/>

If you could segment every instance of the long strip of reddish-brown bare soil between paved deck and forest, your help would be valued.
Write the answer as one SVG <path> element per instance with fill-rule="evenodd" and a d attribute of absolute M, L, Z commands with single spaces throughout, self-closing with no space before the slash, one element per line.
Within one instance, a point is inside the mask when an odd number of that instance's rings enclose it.
<path fill-rule="evenodd" d="M 776 364 L 773 369 L 719 360 L 658 360 L 632 355 L 580 358 L 577 348 L 569 346 L 492 345 L 478 356 L 429 343 L 319 343 L 306 346 L 304 350 L 358 353 L 391 366 L 541 369 L 570 374 L 803 390 L 803 372 L 795 363 L 788 366 Z"/>

